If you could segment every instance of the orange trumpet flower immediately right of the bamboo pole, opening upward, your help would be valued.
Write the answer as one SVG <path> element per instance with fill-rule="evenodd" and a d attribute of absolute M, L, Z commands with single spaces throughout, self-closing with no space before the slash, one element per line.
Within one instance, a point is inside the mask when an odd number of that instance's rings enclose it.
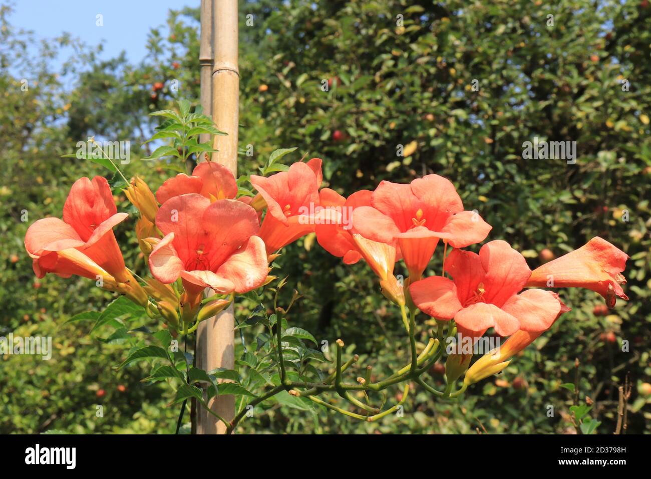
<path fill-rule="evenodd" d="M 268 254 L 314 231 L 314 209 L 322 182 L 320 158 L 296 162 L 288 171 L 270 177 L 251 175 L 251 184 L 267 205 L 260 237 Z"/>

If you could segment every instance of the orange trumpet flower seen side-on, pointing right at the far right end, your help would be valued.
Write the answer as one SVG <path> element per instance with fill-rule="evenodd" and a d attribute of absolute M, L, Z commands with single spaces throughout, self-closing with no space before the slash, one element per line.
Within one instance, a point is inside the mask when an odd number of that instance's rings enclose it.
<path fill-rule="evenodd" d="M 549 261 L 531 273 L 527 286 L 584 287 L 602 295 L 609 308 L 616 297 L 628 299 L 620 286 L 628 255 L 600 237 L 568 254 Z"/>

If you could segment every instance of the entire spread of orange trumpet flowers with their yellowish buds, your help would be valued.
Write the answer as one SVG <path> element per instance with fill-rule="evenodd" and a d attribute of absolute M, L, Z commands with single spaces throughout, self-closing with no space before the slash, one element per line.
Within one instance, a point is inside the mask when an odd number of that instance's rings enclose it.
<path fill-rule="evenodd" d="M 126 195 L 141 212 L 135 232 L 152 275 L 142 284 L 125 267 L 113 234 L 128 215 L 117 212 L 102 177 L 77 180 L 63 219 L 31 225 L 25 248 L 39 278 L 48 272 L 92 278 L 188 332 L 236 295 L 270 282 L 269 264 L 277 252 L 315 233 L 318 243 L 344 263 L 366 261 L 383 295 L 403 312 L 420 310 L 439 322 L 454 321 L 449 324 L 473 340 L 489 328 L 510 336 L 469 370 L 469 357 L 449 358 L 449 380 L 467 370 L 465 384 L 501 371 L 569 310 L 556 293 L 541 287 L 592 289 L 609 307 L 616 297 L 628 299 L 620 286 L 628 255 L 599 237 L 532 271 L 503 240 L 484 243 L 478 254 L 463 249 L 483 242 L 492 226 L 478 212 L 465 210 L 454 185 L 439 175 L 410 184 L 382 181 L 372 192 L 348 197 L 320 188 L 322 179 L 319 158 L 270 177 L 251 175 L 254 197 L 238 197 L 232 173 L 214 162 L 168 179 L 156 195 L 142 179 L 133 179 Z M 423 278 L 439 242 L 443 272 Z M 408 278 L 394 274 L 400 260 Z M 204 300 L 206 288 L 217 296 Z"/>

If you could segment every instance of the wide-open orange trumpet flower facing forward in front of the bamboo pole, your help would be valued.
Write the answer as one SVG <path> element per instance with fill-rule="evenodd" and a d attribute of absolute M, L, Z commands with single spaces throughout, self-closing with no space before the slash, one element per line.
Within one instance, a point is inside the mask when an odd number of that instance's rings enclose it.
<path fill-rule="evenodd" d="M 161 205 L 156 225 L 165 236 L 149 255 L 152 275 L 163 284 L 182 278 L 192 306 L 205 287 L 246 293 L 264 283 L 268 266 L 258 216 L 241 201 L 175 196 Z"/>

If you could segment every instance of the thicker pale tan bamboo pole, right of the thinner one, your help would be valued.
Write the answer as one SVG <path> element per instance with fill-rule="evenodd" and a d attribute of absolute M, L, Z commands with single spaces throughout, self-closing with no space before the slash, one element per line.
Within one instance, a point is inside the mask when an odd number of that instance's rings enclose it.
<path fill-rule="evenodd" d="M 219 150 L 212 155 L 212 161 L 227 166 L 234 176 L 238 164 L 238 121 L 240 100 L 240 72 L 238 71 L 238 1 L 214 0 L 212 72 L 212 119 L 226 136 L 215 136 L 213 147 Z M 202 349 L 204 370 L 214 368 L 232 369 L 235 366 L 235 321 L 232 306 L 208 319 L 202 334 L 205 348 Z M 201 343 L 200 343 L 201 344 Z M 215 396 L 210 401 L 215 413 L 226 420 L 235 416 L 235 397 Z M 200 434 L 223 434 L 225 425 L 217 422 L 212 414 L 202 417 L 197 427 Z"/>

